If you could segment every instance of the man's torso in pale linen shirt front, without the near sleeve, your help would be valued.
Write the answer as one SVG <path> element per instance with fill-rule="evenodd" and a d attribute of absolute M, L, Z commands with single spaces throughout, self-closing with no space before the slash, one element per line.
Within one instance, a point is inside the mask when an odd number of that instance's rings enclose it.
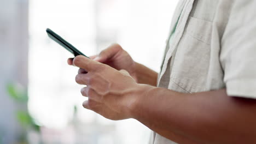
<path fill-rule="evenodd" d="M 159 87 L 182 93 L 225 87 L 219 53 L 220 39 L 228 21 L 231 3 L 212 0 L 179 2 L 173 22 L 176 23 L 180 14 L 181 17 L 172 41 L 167 42 Z M 151 143 L 174 142 L 154 134 Z"/>

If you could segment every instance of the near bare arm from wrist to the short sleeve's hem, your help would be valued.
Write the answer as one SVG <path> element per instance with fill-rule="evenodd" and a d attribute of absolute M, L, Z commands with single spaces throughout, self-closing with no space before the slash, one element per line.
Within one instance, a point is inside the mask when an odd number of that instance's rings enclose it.
<path fill-rule="evenodd" d="M 133 116 L 168 139 L 207 144 L 256 142 L 254 100 L 228 97 L 225 89 L 184 94 L 143 87 Z"/>

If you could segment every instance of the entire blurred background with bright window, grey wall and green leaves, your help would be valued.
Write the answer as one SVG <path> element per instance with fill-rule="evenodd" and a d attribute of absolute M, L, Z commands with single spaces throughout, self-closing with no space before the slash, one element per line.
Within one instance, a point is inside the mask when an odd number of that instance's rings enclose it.
<path fill-rule="evenodd" d="M 146 144 L 135 119 L 110 121 L 83 109 L 71 53 L 53 31 L 91 56 L 119 43 L 155 71 L 178 0 L 0 0 L 0 144 Z"/>

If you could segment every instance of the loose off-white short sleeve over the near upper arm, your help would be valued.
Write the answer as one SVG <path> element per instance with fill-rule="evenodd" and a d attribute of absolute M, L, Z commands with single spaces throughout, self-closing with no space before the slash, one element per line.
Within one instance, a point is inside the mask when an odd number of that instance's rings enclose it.
<path fill-rule="evenodd" d="M 236 0 L 221 40 L 220 63 L 232 97 L 256 99 L 255 0 Z"/>

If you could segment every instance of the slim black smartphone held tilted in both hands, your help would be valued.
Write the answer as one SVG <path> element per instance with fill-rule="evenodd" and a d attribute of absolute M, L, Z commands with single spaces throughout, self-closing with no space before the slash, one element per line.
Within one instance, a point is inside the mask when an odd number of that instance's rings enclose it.
<path fill-rule="evenodd" d="M 56 34 L 54 31 L 51 31 L 50 28 L 46 29 L 46 32 L 48 34 L 48 36 L 53 39 L 54 41 L 56 41 L 56 43 L 60 44 L 61 46 L 63 46 L 66 50 L 68 50 L 69 52 L 73 53 L 73 55 L 79 56 L 85 56 L 84 53 L 80 52 L 78 49 L 76 49 L 73 45 L 69 44 L 65 39 L 61 38 L 60 35 Z M 85 56 L 88 57 L 88 56 Z M 88 57 L 89 58 L 89 57 Z"/>

